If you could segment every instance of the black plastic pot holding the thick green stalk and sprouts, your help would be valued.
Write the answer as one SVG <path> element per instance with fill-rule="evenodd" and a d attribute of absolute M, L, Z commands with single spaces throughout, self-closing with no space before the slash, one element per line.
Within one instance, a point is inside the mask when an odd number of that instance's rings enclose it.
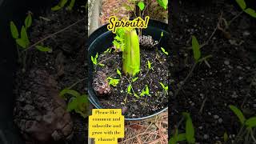
<path fill-rule="evenodd" d="M 102 107 L 101 103 L 98 101 L 98 98 L 92 86 L 94 66 L 90 60 L 90 56 L 97 53 L 101 54 L 103 51 L 113 45 L 112 42 L 114 40 L 114 34 L 111 31 L 107 30 L 106 26 L 107 25 L 98 28 L 98 30 L 95 30 L 94 33 L 90 35 L 88 42 L 88 94 L 90 102 L 98 109 L 103 109 L 104 107 Z M 155 40 L 160 39 L 162 32 L 164 34 L 164 37 L 162 38 L 159 46 L 167 47 L 166 45 L 168 43 L 167 41 L 169 37 L 169 32 L 168 25 L 166 23 L 150 20 L 148 27 L 142 30 L 142 34 L 151 35 Z M 147 115 L 142 118 L 125 118 L 125 120 L 142 120 L 146 118 L 151 118 L 154 115 L 160 114 L 163 111 L 167 110 L 167 108 L 168 107 L 165 107 L 157 113 Z"/>

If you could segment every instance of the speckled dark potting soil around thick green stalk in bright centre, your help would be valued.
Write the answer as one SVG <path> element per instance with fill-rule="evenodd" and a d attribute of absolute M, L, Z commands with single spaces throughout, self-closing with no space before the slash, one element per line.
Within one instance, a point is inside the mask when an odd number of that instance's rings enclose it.
<path fill-rule="evenodd" d="M 156 51 L 154 50 L 156 49 Z M 122 78 L 117 74 L 117 69 L 122 71 L 122 53 L 106 53 L 99 55 L 98 62 L 105 66 L 97 66 L 94 73 L 94 80 L 98 71 L 106 74 L 106 77 L 120 79 L 118 86 L 111 86 L 110 94 L 98 96 L 104 108 L 125 109 L 126 118 L 142 118 L 154 114 L 168 105 L 168 97 L 159 82 L 167 86 L 168 64 L 166 54 L 157 48 L 143 50 L 141 48 L 141 71 L 136 76 L 138 80 L 132 82 L 132 77 L 122 74 Z M 149 70 L 147 61 L 151 62 L 152 69 Z M 136 78 L 134 77 L 134 78 Z M 129 81 L 128 81 L 129 80 Z M 97 80 L 96 80 L 97 82 Z M 131 94 L 127 93 L 127 87 L 132 86 Z M 150 95 L 140 96 L 146 85 L 150 90 Z M 138 97 L 134 96 L 134 93 Z"/>

